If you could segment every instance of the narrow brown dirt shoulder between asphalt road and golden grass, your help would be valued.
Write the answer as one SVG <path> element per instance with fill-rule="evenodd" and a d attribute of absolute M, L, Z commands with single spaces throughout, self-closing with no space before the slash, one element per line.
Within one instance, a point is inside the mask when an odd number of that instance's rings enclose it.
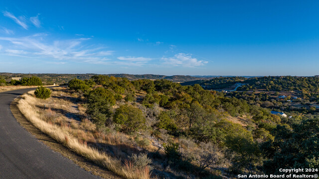
<path fill-rule="evenodd" d="M 19 98 L 16 98 L 11 102 L 10 109 L 12 111 L 12 114 L 16 118 L 16 120 L 20 123 L 20 125 L 24 129 L 26 129 L 29 133 L 31 133 L 36 139 L 43 142 L 51 150 L 58 152 L 62 156 L 73 161 L 79 167 L 83 168 L 86 171 L 91 172 L 93 175 L 102 177 L 104 179 L 121 179 L 118 176 L 114 175 L 112 172 L 106 171 L 105 169 L 101 169 L 97 164 L 75 154 L 70 149 L 66 148 L 65 146 L 56 142 L 54 139 L 52 139 L 48 135 L 41 132 L 31 122 L 29 122 L 23 116 L 23 114 L 19 111 L 19 109 L 16 106 L 18 100 Z"/>

